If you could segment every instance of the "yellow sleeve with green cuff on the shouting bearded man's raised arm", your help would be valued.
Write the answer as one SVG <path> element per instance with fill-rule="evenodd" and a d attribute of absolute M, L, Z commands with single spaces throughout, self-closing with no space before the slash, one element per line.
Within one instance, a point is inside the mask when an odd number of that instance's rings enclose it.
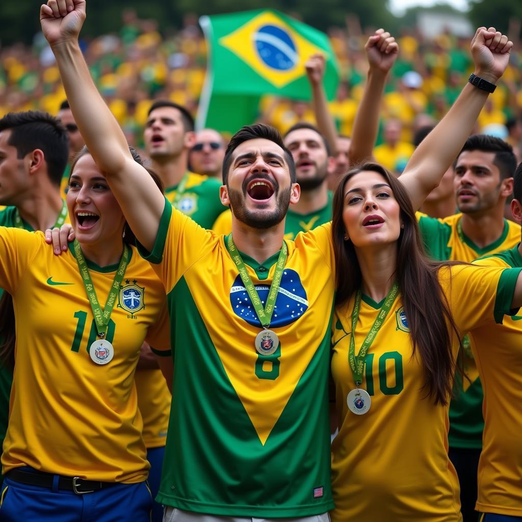
<path fill-rule="evenodd" d="M 185 271 L 209 252 L 217 242 L 215 234 L 201 228 L 165 198 L 165 207 L 152 251 L 138 244 L 146 259 L 169 293 Z"/>

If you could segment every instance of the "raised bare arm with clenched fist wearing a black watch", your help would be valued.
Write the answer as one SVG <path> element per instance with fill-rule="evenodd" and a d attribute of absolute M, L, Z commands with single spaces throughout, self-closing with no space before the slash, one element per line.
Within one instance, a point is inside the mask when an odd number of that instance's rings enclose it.
<path fill-rule="evenodd" d="M 494 27 L 479 27 L 471 41 L 474 74 L 496 84 L 509 61 L 513 42 Z M 414 209 L 435 188 L 455 160 L 482 110 L 488 92 L 466 84 L 452 108 L 426 136 L 406 165 L 400 181 L 405 184 Z"/>

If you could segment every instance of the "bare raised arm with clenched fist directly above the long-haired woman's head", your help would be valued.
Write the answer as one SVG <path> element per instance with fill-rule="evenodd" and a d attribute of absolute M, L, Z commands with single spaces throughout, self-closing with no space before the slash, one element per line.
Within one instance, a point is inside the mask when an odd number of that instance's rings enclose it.
<path fill-rule="evenodd" d="M 386 78 L 399 52 L 395 38 L 384 29 L 375 31 L 364 46 L 368 60 L 368 78 L 355 121 L 348 157 L 350 164 L 371 159 L 377 139 L 379 113 Z"/>

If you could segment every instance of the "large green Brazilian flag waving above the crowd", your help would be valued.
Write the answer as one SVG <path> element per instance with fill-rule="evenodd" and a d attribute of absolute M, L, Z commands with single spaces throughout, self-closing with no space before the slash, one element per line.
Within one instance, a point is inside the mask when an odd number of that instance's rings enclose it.
<path fill-rule="evenodd" d="M 316 53 L 326 58 L 324 85 L 327 97 L 333 99 L 338 67 L 321 31 L 266 9 L 203 16 L 199 23 L 209 60 L 197 128 L 234 133 L 254 123 L 263 94 L 310 100 L 304 64 Z"/>

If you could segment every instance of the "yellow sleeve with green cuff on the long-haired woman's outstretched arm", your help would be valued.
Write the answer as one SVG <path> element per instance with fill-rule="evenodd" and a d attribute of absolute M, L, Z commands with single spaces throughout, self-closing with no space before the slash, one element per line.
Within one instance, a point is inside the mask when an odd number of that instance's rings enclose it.
<path fill-rule="evenodd" d="M 511 302 L 521 270 L 476 265 L 441 269 L 441 284 L 448 289 L 450 309 L 463 334 L 487 323 L 502 324 L 504 315 L 515 313 Z"/>

